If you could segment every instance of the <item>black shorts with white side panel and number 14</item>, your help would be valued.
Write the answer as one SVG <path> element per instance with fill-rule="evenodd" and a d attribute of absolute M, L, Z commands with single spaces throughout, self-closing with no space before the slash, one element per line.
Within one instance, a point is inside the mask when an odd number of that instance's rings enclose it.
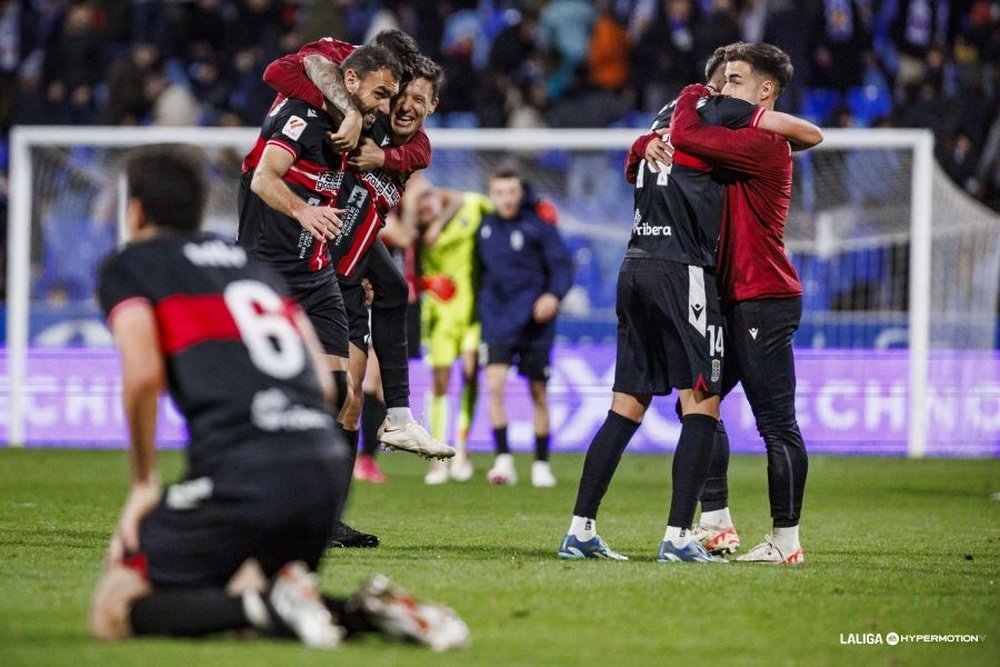
<path fill-rule="evenodd" d="M 614 391 L 721 392 L 723 319 L 711 274 L 678 262 L 626 259 L 616 312 Z"/>

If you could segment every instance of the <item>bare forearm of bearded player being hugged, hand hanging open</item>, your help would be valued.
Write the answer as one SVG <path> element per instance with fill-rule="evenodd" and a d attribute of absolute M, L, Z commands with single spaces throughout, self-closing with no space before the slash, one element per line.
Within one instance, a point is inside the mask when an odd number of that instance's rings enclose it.
<path fill-rule="evenodd" d="M 317 241 L 332 239 L 340 232 L 338 215 L 343 209 L 329 206 L 309 206 L 292 192 L 284 177 L 295 162 L 295 156 L 282 144 L 269 143 L 254 170 L 250 189 L 265 204 L 294 219 Z"/>

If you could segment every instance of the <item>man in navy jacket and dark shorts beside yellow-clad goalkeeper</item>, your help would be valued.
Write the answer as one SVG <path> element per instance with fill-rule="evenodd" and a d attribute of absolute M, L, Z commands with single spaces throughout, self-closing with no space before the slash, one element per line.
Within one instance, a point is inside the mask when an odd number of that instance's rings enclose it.
<path fill-rule="evenodd" d="M 478 312 L 486 350 L 490 420 L 497 454 L 487 479 L 515 484 L 507 446 L 504 392 L 507 372 L 517 364 L 535 406 L 535 461 L 531 483 L 555 486 L 549 468 L 549 409 L 546 383 L 559 302 L 573 284 L 573 262 L 555 227 L 554 212 L 526 193 L 520 174 L 502 167 L 490 177 L 496 212 L 479 227 L 481 270 Z"/>

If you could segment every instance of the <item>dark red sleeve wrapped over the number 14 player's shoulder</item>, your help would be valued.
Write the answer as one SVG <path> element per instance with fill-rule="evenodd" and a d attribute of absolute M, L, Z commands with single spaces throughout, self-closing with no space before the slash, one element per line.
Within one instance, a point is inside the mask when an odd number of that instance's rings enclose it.
<path fill-rule="evenodd" d="M 685 88 L 677 99 L 670 130 L 675 148 L 712 166 L 749 176 L 768 171 L 789 153 L 788 142 L 772 132 L 705 125 L 696 105 L 707 94 L 705 86 L 696 84 Z"/>

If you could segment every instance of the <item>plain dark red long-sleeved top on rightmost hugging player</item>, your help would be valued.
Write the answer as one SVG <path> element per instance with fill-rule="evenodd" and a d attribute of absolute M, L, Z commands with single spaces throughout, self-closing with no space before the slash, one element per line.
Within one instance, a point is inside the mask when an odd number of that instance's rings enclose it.
<path fill-rule="evenodd" d="M 732 176 L 719 236 L 719 292 L 731 301 L 801 296 L 783 238 L 792 195 L 791 146 L 766 130 L 706 125 L 697 105 L 707 95 L 702 85 L 684 89 L 670 141 L 678 150 L 724 166 Z"/>

